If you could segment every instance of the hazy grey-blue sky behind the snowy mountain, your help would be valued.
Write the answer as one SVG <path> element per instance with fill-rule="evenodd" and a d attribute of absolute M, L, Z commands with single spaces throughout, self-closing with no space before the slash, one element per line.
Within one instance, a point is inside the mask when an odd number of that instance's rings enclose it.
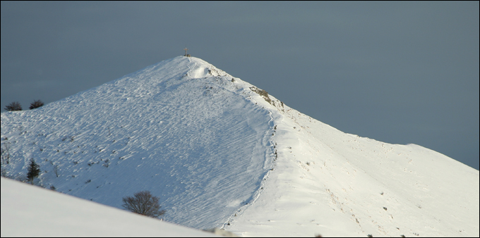
<path fill-rule="evenodd" d="M 184 48 L 343 132 L 479 169 L 479 2 L 1 1 L 1 111 Z"/>

